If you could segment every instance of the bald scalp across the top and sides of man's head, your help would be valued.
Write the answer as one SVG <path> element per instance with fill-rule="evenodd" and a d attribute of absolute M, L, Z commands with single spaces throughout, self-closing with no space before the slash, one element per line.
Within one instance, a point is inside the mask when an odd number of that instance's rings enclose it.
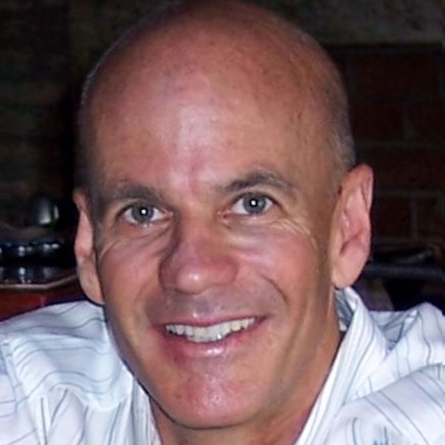
<path fill-rule="evenodd" d="M 310 134 L 303 134 L 299 116 L 303 108 L 316 109 L 335 181 L 355 162 L 339 73 L 312 38 L 251 3 L 176 1 L 127 31 L 88 76 L 80 113 L 83 186 L 92 186 L 105 108 L 120 107 L 124 120 L 147 90 L 184 100 L 187 92 L 201 92 L 202 100 L 217 100 L 204 98 L 210 89 L 234 102 L 255 97 L 264 113 L 286 110 L 289 126 L 305 139 Z"/>

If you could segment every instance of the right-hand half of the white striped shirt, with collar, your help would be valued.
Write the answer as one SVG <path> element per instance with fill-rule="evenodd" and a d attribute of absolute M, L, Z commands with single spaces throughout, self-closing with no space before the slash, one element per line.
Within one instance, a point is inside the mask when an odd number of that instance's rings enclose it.
<path fill-rule="evenodd" d="M 351 289 L 337 306 L 348 329 L 297 444 L 445 445 L 442 314 L 370 313 Z"/>

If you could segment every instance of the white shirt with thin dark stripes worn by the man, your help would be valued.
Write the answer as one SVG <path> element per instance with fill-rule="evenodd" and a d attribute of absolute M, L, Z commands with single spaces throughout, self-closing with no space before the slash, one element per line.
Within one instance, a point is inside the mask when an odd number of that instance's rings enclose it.
<path fill-rule="evenodd" d="M 445 321 L 337 296 L 345 337 L 296 445 L 445 444 Z M 67 303 L 1 323 L 0 445 L 161 445 L 102 309 Z"/>

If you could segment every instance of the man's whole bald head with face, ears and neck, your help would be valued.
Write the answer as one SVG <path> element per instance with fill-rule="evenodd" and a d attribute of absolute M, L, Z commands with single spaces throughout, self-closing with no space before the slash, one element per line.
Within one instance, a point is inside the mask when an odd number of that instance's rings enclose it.
<path fill-rule="evenodd" d="M 163 443 L 294 443 L 369 251 L 330 59 L 251 3 L 178 3 L 100 60 L 81 136 L 79 277 Z"/>

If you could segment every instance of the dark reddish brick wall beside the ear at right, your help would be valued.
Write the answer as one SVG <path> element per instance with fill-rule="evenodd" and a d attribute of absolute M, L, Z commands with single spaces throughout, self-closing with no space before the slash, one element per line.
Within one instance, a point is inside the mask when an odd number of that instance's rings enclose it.
<path fill-rule="evenodd" d="M 359 159 L 375 169 L 377 243 L 445 243 L 445 80 L 439 45 L 330 47 Z"/>

